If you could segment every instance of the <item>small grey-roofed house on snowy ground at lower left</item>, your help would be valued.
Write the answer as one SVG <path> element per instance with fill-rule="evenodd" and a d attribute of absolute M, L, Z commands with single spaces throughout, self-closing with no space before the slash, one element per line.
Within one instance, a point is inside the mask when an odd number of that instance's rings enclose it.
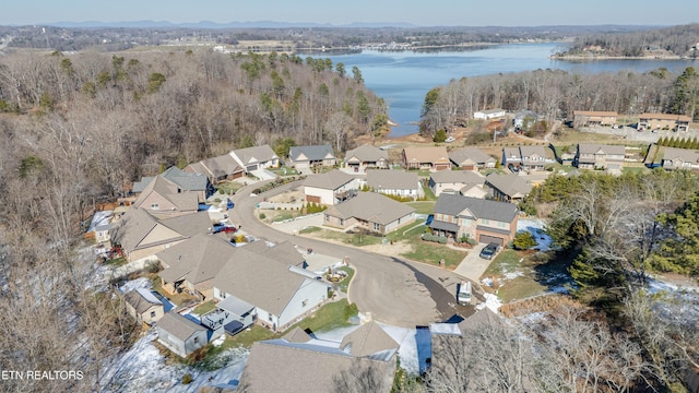
<path fill-rule="evenodd" d="M 157 342 L 180 357 L 208 343 L 208 329 L 170 311 L 157 321 Z"/>

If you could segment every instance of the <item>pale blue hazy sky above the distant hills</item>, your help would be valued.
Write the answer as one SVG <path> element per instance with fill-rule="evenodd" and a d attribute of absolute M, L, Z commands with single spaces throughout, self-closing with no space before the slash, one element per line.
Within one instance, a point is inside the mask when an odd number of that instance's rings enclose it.
<path fill-rule="evenodd" d="M 420 26 L 676 25 L 696 0 L 8 0 L 0 25 L 51 22 L 407 22 Z"/>

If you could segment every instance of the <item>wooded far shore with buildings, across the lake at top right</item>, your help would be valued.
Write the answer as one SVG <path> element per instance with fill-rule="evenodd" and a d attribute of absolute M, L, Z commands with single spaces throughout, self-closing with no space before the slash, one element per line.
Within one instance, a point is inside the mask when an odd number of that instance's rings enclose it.
<path fill-rule="evenodd" d="M 561 57 L 683 57 L 699 55 L 699 24 L 625 33 L 591 34 L 576 38 Z"/>

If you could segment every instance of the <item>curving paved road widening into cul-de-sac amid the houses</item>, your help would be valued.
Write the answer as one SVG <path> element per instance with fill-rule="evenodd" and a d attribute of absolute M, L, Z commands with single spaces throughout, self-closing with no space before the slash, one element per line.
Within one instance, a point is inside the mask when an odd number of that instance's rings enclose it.
<path fill-rule="evenodd" d="M 256 184 L 254 187 L 259 187 Z M 296 237 L 261 223 L 254 206 L 263 198 L 288 191 L 299 183 L 289 183 L 257 196 L 250 196 L 251 186 L 234 196 L 235 209 L 229 211 L 234 223 L 242 230 L 273 242 L 292 241 L 301 248 L 327 254 L 347 257 L 356 274 L 350 287 L 350 298 L 362 312 L 391 325 L 414 327 L 446 320 L 453 314 L 466 317 L 473 308 L 457 305 L 457 284 L 461 277 L 436 266 L 403 259 L 379 255 L 357 248 Z"/>

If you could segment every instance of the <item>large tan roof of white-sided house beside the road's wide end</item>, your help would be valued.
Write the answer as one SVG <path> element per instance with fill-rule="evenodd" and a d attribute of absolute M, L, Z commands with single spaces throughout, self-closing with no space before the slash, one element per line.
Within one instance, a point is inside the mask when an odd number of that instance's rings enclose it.
<path fill-rule="evenodd" d="M 214 286 L 280 315 L 301 284 L 309 278 L 294 272 L 289 265 L 246 248 L 237 248 L 235 255 L 214 278 Z M 312 282 L 323 285 L 315 279 Z"/>

